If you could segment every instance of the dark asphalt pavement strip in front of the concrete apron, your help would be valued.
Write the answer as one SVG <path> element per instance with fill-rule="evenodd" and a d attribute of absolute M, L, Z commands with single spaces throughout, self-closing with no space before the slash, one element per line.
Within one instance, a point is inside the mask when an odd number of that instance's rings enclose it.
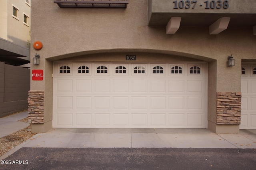
<path fill-rule="evenodd" d="M 255 170 L 256 150 L 21 148 L 5 161 L 1 170 Z"/>

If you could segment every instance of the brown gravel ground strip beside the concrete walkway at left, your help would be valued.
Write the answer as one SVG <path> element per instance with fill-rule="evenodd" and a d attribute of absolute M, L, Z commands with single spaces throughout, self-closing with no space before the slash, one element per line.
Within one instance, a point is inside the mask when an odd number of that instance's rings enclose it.
<path fill-rule="evenodd" d="M 28 122 L 28 118 L 24 118 L 22 120 L 19 120 L 20 122 Z M 19 130 L 18 132 L 15 132 L 13 134 L 10 134 L 8 136 L 4 136 L 0 138 L 0 156 L 4 155 L 5 153 L 9 152 L 22 142 L 28 140 L 32 136 L 34 136 L 36 133 L 31 133 L 31 124 L 27 128 L 24 128 L 22 130 Z"/>

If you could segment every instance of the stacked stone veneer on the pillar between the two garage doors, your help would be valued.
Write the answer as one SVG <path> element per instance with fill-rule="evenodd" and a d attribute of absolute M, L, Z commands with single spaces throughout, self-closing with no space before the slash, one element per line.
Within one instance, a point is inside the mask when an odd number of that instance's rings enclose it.
<path fill-rule="evenodd" d="M 241 92 L 217 92 L 216 124 L 241 124 Z"/>

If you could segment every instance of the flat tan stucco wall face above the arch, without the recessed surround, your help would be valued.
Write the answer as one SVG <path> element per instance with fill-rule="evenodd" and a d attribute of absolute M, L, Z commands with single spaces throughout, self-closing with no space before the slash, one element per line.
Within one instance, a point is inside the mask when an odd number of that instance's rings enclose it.
<path fill-rule="evenodd" d="M 41 64 L 36 68 L 44 68 L 44 58 L 57 60 L 98 53 L 98 50 L 149 50 L 206 62 L 218 60 L 217 91 L 240 91 L 237 75 L 241 59 L 252 59 L 256 54 L 252 27 L 232 27 L 218 35 L 209 35 L 208 27 L 182 27 L 174 35 L 167 35 L 165 27 L 149 27 L 147 0 L 130 1 L 126 9 L 59 8 L 52 0 L 34 0 L 33 5 L 32 42 L 43 43 L 38 52 Z M 32 49 L 31 55 L 36 52 Z M 227 66 L 231 54 L 236 60 L 232 68 Z M 226 80 L 231 79 L 233 83 L 226 86 Z M 43 90 L 42 83 L 32 83 L 32 88 Z"/>

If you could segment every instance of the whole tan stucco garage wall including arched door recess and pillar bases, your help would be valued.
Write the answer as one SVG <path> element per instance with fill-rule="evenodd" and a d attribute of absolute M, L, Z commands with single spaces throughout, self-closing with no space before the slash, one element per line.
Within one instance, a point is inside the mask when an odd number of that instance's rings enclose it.
<path fill-rule="evenodd" d="M 210 35 L 208 26 L 181 27 L 168 35 L 165 26 L 148 26 L 148 0 L 130 0 L 126 9 L 59 8 L 52 0 L 34 0 L 32 6 L 31 42 L 39 40 L 43 48 L 31 48 L 31 55 L 40 54 L 40 64 L 31 70 L 44 70 L 44 80 L 31 81 L 32 91 L 44 92 L 44 123 L 33 124 L 34 131 L 52 128 L 54 61 L 125 62 L 121 56 L 131 53 L 136 62 L 207 62 L 208 128 L 239 131 L 238 124 L 217 124 L 216 94 L 241 91 L 242 60 L 256 61 L 251 26 L 229 27 L 217 35 Z M 229 67 L 231 54 L 235 66 Z"/>

